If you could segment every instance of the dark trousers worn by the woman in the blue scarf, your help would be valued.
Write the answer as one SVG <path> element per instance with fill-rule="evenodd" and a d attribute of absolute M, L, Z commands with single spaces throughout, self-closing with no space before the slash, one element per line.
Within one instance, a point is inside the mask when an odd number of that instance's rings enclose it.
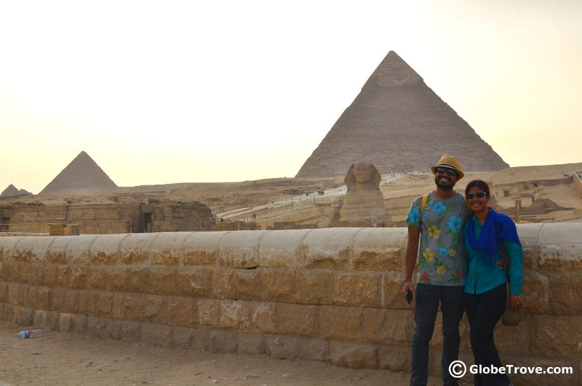
<path fill-rule="evenodd" d="M 496 286 L 480 295 L 465 294 L 465 310 L 471 326 L 471 349 L 475 364 L 501 367 L 501 359 L 493 342 L 493 330 L 505 311 L 506 285 Z M 475 386 L 507 386 L 506 374 L 475 374 Z"/>

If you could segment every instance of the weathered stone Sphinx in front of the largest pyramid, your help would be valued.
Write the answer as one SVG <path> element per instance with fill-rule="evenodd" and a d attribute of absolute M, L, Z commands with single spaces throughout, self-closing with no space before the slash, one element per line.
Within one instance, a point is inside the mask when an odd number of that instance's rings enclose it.
<path fill-rule="evenodd" d="M 370 221 L 372 224 L 390 220 L 380 192 L 381 176 L 367 162 L 352 164 L 344 178 L 348 192 L 339 213 L 340 221 Z"/>

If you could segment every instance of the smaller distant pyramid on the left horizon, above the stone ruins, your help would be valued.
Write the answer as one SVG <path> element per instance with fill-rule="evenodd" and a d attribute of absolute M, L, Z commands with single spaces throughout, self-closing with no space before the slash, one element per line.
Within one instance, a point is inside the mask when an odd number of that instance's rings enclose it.
<path fill-rule="evenodd" d="M 41 193 L 49 190 L 79 189 L 83 187 L 117 187 L 115 182 L 89 157 L 80 152 Z"/>

